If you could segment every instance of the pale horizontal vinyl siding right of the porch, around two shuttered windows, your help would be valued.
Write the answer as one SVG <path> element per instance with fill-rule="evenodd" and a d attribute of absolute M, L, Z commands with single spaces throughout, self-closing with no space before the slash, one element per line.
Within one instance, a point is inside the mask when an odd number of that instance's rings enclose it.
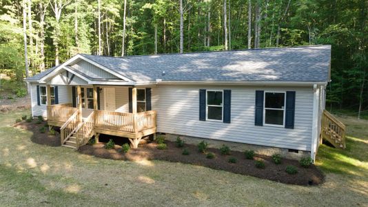
<path fill-rule="evenodd" d="M 199 89 L 232 90 L 231 124 L 199 121 Z M 296 91 L 294 129 L 254 126 L 256 90 Z M 312 88 L 158 86 L 152 88 L 152 110 L 157 110 L 159 132 L 296 150 L 311 149 Z"/>

